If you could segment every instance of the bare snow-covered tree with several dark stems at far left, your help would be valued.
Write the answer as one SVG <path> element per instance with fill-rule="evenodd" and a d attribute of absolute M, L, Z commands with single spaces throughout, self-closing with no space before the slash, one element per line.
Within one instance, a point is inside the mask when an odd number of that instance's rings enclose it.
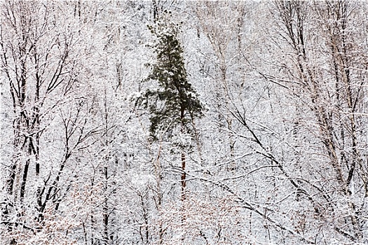
<path fill-rule="evenodd" d="M 59 18 L 57 8 L 64 9 L 69 18 Z M 72 88 L 79 80 L 76 69 L 81 68 L 76 59 L 81 53 L 74 49 L 79 27 L 68 10 L 65 3 L 1 3 L 1 70 L 13 108 L 12 157 L 5 165 L 2 218 L 8 231 L 5 237 L 12 244 L 39 234 L 55 218 L 63 197 L 61 188 L 67 186 L 60 184 L 65 167 L 76 146 L 88 138 L 86 122 L 76 126 L 83 117 L 79 113 L 85 109 L 83 102 L 71 106 L 76 108 L 71 118 L 54 116 L 60 105 L 73 102 L 76 90 Z M 49 159 L 50 142 L 55 141 L 48 141 L 53 131 L 50 125 L 60 120 L 65 134 L 55 143 L 60 151 Z M 73 139 L 77 134 L 79 138 Z"/>

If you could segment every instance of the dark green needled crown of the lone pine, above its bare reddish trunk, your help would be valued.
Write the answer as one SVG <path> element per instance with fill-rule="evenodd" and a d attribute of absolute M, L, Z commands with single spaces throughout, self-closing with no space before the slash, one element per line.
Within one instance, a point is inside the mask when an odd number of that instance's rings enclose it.
<path fill-rule="evenodd" d="M 151 115 L 151 136 L 156 139 L 160 130 L 172 130 L 179 125 L 182 132 L 189 132 L 189 123 L 203 116 L 203 106 L 187 78 L 178 39 L 179 25 L 158 20 L 149 29 L 156 36 L 153 48 L 157 60 L 146 80 L 156 81 L 158 88 L 146 90 L 142 104 Z"/>

